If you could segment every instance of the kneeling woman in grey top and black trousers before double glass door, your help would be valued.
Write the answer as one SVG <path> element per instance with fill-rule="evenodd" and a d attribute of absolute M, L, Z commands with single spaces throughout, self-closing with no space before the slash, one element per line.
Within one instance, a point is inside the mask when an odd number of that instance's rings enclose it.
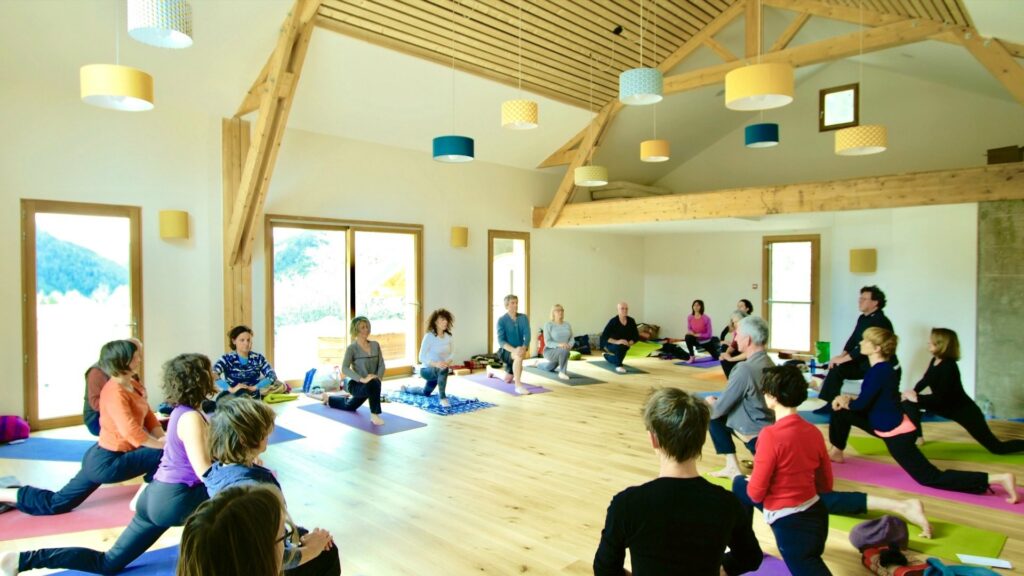
<path fill-rule="evenodd" d="M 345 392 L 351 396 L 325 394 L 324 405 L 354 412 L 369 400 L 370 421 L 375 425 L 382 425 L 381 378 L 384 377 L 384 356 L 381 354 L 381 345 L 370 339 L 370 321 L 365 316 L 352 319 L 348 333 L 352 343 L 345 348 L 341 371 L 346 376 Z"/>

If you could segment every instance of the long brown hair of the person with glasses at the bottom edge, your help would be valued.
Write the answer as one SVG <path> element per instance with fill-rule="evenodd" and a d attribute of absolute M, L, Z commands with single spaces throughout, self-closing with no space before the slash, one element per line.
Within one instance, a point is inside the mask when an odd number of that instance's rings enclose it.
<path fill-rule="evenodd" d="M 274 543 L 283 516 L 281 498 L 266 486 L 234 486 L 219 492 L 185 521 L 177 576 L 280 573 Z"/>

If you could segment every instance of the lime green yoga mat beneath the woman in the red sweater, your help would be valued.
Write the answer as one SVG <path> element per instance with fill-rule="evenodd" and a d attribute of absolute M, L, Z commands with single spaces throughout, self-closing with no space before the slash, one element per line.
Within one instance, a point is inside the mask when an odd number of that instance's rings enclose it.
<path fill-rule="evenodd" d="M 732 489 L 732 479 L 714 478 L 708 475 L 705 475 L 705 478 L 712 484 L 717 484 L 727 490 Z M 854 526 L 861 522 L 882 515 L 883 512 L 873 511 L 862 517 L 828 515 L 828 527 L 849 533 Z M 932 517 L 929 517 L 928 520 L 932 523 L 931 539 L 918 536 L 921 533 L 920 527 L 908 526 L 911 550 L 946 560 L 956 560 L 957 553 L 998 558 L 1002 551 L 1002 545 L 1007 542 L 1006 535 L 997 532 L 944 522 Z"/>

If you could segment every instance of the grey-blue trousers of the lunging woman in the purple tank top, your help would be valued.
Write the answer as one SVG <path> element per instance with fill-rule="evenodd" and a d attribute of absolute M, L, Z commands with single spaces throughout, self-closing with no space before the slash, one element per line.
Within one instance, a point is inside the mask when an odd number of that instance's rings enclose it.
<path fill-rule="evenodd" d="M 209 499 L 206 486 L 153 482 L 138 500 L 131 524 L 105 552 L 90 548 L 45 548 L 22 552 L 18 571 L 68 568 L 95 574 L 118 574 L 142 556 L 172 526 L 182 526 Z"/>

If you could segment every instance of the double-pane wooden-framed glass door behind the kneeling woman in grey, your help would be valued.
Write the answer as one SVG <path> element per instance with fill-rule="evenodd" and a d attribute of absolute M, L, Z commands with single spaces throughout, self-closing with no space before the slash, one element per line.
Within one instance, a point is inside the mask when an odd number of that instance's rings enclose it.
<path fill-rule="evenodd" d="M 370 320 L 387 374 L 409 374 L 423 334 L 423 227 L 267 215 L 267 355 L 279 376 L 341 366 L 351 319 Z"/>

